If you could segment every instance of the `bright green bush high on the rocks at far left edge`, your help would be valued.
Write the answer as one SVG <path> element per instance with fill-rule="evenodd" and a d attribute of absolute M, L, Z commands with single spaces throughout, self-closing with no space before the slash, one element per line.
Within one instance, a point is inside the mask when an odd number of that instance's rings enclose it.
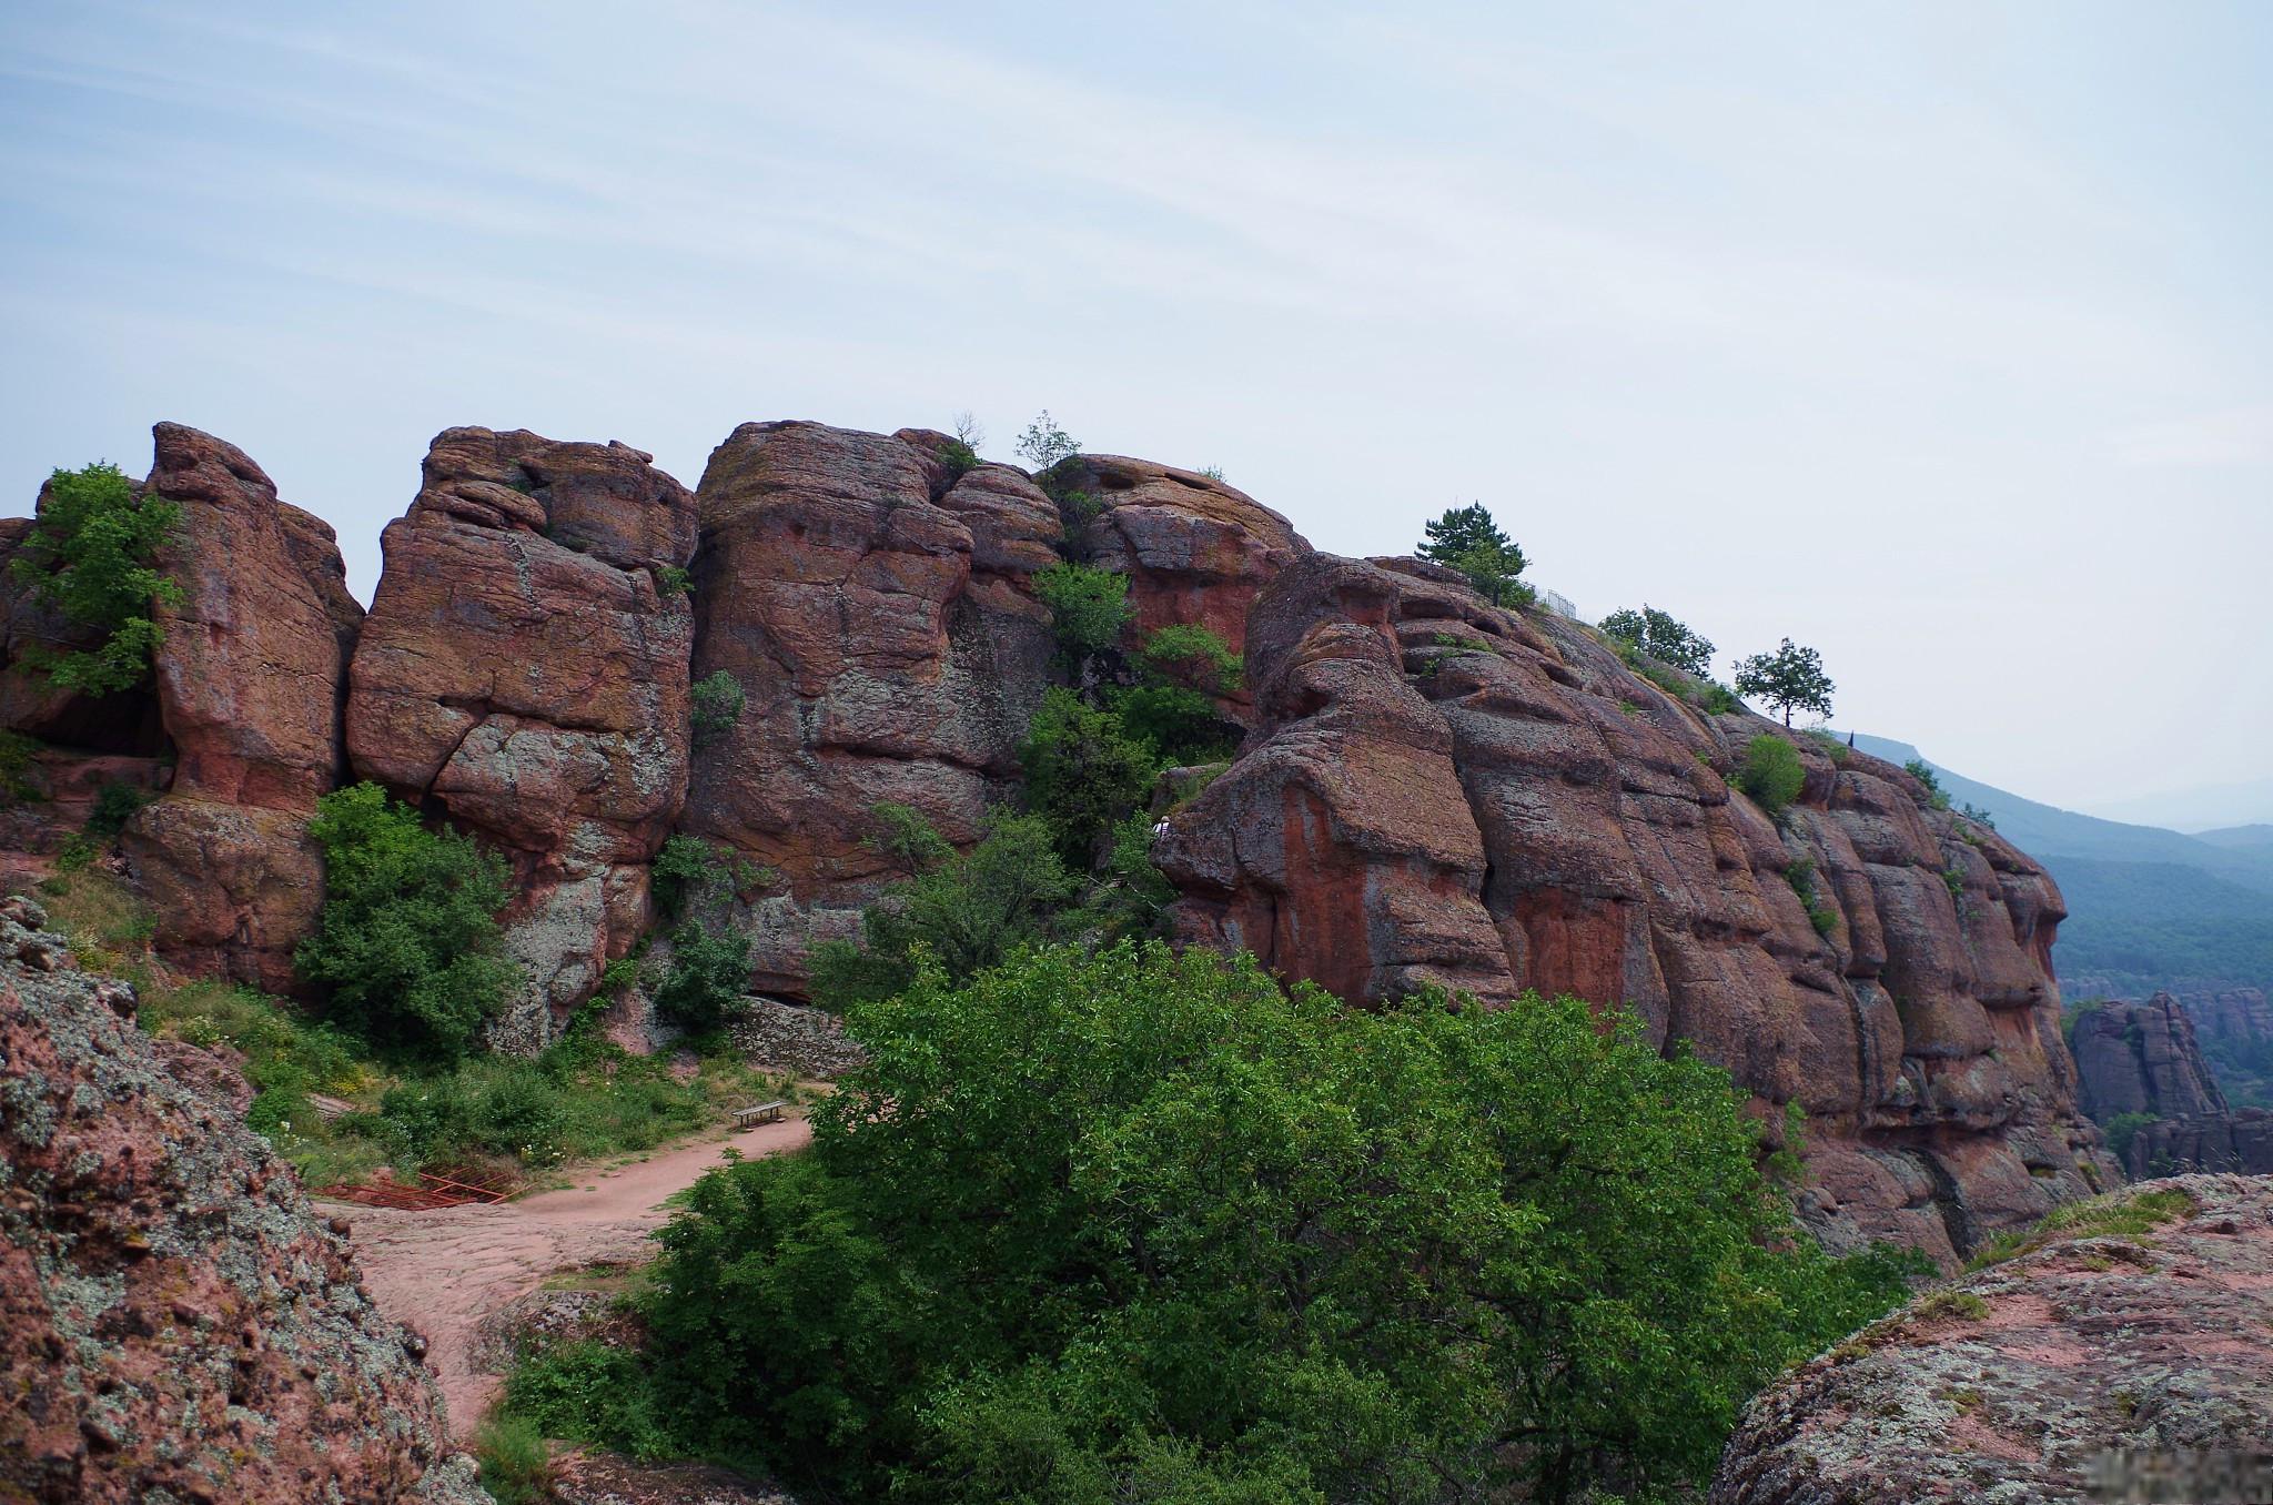
<path fill-rule="evenodd" d="M 50 475 L 39 518 L 9 571 L 32 587 L 36 602 L 77 627 L 98 630 L 102 641 L 68 652 L 34 648 L 27 662 L 64 689 L 89 696 L 141 684 L 164 637 L 150 607 L 182 600 L 180 582 L 155 564 L 180 521 L 180 502 L 136 493 L 114 464 Z"/>

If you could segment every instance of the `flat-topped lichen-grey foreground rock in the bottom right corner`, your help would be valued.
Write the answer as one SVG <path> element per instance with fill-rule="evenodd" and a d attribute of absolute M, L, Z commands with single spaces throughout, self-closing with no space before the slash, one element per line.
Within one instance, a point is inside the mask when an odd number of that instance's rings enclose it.
<path fill-rule="evenodd" d="M 2123 1455 L 2264 1469 L 2273 1435 L 2273 1182 L 2166 1187 L 2196 1209 L 1968 1275 L 1784 1375 L 1730 1439 L 1712 1505 L 2266 1498 L 2266 1478 L 2109 1473 Z"/>

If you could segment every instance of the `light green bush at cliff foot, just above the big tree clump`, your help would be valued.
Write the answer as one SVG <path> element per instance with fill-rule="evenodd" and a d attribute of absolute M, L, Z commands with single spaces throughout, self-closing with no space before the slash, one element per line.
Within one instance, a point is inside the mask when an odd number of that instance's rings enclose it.
<path fill-rule="evenodd" d="M 859 946 L 836 939 L 814 948 L 814 1003 L 843 1012 L 889 998 L 914 982 L 918 953 L 961 980 L 1048 939 L 1082 891 L 1055 846 L 1046 821 L 996 812 L 986 839 L 966 855 L 948 848 L 861 909 Z"/>

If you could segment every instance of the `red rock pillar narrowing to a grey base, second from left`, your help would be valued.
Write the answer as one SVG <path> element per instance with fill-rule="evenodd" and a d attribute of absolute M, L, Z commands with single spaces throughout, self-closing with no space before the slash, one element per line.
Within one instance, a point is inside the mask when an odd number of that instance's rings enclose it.
<path fill-rule="evenodd" d="M 550 1039 L 646 921 L 686 798 L 693 546 L 693 496 L 648 455 L 525 430 L 446 430 L 386 525 L 348 757 L 511 857 L 530 982 L 502 1046 Z"/>

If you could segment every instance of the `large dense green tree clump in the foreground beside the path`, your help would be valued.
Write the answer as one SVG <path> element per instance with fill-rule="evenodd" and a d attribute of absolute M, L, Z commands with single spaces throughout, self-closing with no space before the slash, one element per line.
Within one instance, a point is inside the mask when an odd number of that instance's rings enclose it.
<path fill-rule="evenodd" d="M 1900 1294 L 1825 1259 L 1725 1073 L 1575 1000 L 1343 1009 L 1164 948 L 925 968 L 807 1155 L 700 1182 L 650 1375 L 677 1448 L 909 1500 L 1537 1498 L 1702 1478 Z"/>

